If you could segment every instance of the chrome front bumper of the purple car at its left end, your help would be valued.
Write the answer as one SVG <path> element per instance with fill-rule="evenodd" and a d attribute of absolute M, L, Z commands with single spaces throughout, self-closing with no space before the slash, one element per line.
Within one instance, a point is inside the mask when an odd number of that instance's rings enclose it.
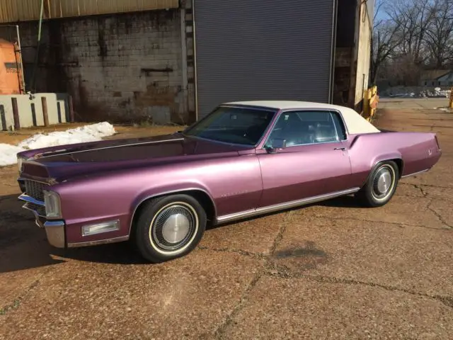
<path fill-rule="evenodd" d="M 46 220 L 45 216 L 43 216 L 42 214 L 44 203 L 40 200 L 35 200 L 25 193 L 19 196 L 19 200 L 23 200 L 25 202 L 22 208 L 33 212 L 33 215 L 35 215 L 36 225 L 38 225 L 38 227 L 40 228 L 45 229 L 45 233 L 47 234 L 47 242 L 49 242 L 51 246 L 55 246 L 56 248 L 65 248 L 66 237 L 64 221 Z"/>

